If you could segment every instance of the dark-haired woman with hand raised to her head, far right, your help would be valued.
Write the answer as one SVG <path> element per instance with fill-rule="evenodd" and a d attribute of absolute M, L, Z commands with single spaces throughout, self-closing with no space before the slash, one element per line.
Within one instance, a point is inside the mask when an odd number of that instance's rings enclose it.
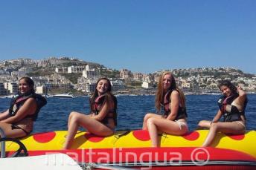
<path fill-rule="evenodd" d="M 219 88 L 223 96 L 218 100 L 216 116 L 212 121 L 202 120 L 198 124 L 199 128 L 210 128 L 202 146 L 210 146 L 218 131 L 228 134 L 243 134 L 246 131 L 246 92 L 228 80 L 220 82 Z M 222 116 L 224 121 L 219 122 Z"/>

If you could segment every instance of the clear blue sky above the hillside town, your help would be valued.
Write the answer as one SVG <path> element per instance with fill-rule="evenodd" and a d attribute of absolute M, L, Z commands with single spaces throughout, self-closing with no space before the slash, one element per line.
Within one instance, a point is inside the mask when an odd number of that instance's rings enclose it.
<path fill-rule="evenodd" d="M 256 1 L 1 1 L 0 59 L 49 56 L 142 73 L 256 73 Z"/>

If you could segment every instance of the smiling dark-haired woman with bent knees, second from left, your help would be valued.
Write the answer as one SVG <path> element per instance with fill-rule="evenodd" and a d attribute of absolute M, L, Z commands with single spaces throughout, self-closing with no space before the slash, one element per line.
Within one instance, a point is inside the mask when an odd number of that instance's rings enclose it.
<path fill-rule="evenodd" d="M 114 133 L 117 125 L 117 99 L 111 93 L 109 79 L 101 78 L 96 83 L 95 92 L 90 98 L 91 114 L 80 114 L 72 111 L 68 117 L 68 135 L 63 148 L 71 148 L 79 126 L 92 134 L 109 136 Z"/>

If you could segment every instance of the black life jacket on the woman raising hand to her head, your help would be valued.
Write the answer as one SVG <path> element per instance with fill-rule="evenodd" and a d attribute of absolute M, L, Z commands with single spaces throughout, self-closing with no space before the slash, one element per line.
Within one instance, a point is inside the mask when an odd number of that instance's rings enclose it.
<path fill-rule="evenodd" d="M 239 121 L 241 119 L 241 115 L 243 115 L 245 118 L 245 109 L 247 104 L 244 103 L 243 111 L 239 111 L 238 108 L 234 105 L 231 105 L 231 103 L 238 97 L 238 94 L 232 95 L 231 97 L 225 97 L 224 95 L 220 97 L 218 100 L 218 105 L 220 108 L 220 111 L 223 113 L 223 121 L 224 122 L 233 122 L 233 121 Z M 227 108 L 228 106 L 228 108 Z"/>

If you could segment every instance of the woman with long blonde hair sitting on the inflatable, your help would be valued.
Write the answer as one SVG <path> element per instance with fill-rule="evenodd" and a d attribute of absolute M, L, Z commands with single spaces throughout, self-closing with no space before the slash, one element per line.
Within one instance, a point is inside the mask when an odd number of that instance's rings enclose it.
<path fill-rule="evenodd" d="M 159 78 L 156 91 L 156 109 L 164 114 L 146 114 L 143 122 L 143 130 L 148 130 L 151 144 L 159 147 L 158 133 L 182 135 L 188 132 L 187 112 L 185 96 L 176 87 L 174 76 L 170 72 L 164 72 Z"/>

